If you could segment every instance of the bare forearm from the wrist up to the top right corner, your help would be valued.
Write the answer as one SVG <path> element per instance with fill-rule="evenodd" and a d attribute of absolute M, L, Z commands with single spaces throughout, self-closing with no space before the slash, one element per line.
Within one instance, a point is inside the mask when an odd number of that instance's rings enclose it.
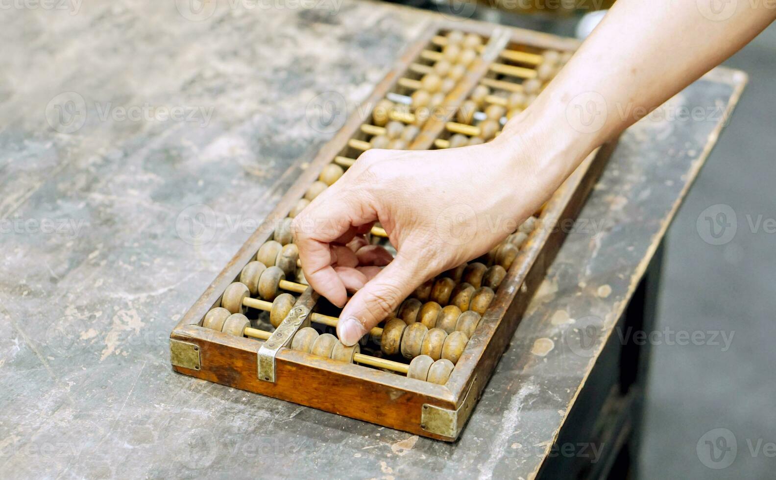
<path fill-rule="evenodd" d="M 708 4 L 705 4 L 708 2 Z M 595 147 L 735 53 L 776 17 L 767 2 L 619 0 L 563 71 L 504 128 L 539 142 L 559 184 Z M 719 9 L 712 10 L 712 6 Z M 552 183 L 552 182 L 551 182 Z"/>

